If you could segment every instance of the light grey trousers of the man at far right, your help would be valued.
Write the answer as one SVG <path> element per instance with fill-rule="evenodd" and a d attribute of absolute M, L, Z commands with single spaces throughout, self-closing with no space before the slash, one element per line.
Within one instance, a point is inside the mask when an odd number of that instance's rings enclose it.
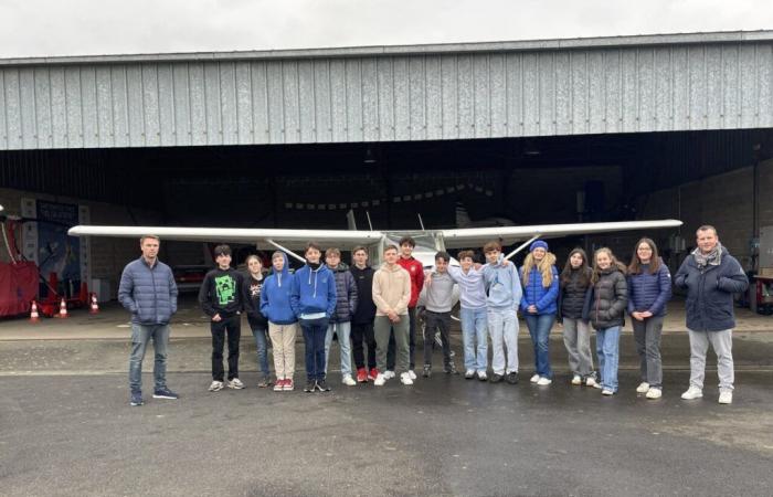
<path fill-rule="evenodd" d="M 719 376 L 719 390 L 733 389 L 733 338 L 732 329 L 722 331 L 692 331 L 690 335 L 690 387 L 703 389 L 706 377 L 706 352 L 709 342 L 717 355 L 717 373 Z"/>

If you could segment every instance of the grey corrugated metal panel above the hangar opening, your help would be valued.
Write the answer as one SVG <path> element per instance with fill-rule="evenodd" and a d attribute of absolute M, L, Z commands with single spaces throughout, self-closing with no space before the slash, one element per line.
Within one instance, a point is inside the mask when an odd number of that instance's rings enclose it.
<path fill-rule="evenodd" d="M 773 127 L 773 31 L 0 61 L 0 149 Z"/>

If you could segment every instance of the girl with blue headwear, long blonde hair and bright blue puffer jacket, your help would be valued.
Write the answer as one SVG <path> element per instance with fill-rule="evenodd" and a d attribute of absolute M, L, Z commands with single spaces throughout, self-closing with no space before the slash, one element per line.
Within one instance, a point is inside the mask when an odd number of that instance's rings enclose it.
<path fill-rule="evenodd" d="M 520 278 L 523 285 L 521 313 L 534 345 L 536 371 L 531 382 L 547 385 L 553 381 L 548 343 L 558 311 L 559 271 L 555 268 L 555 255 L 548 252 L 546 242 L 538 240 L 529 246 Z"/>

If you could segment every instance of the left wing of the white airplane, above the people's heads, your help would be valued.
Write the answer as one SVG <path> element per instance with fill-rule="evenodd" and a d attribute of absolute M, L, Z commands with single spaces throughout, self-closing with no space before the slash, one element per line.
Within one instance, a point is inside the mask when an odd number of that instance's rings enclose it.
<path fill-rule="evenodd" d="M 379 243 L 383 234 L 379 231 L 349 230 L 278 230 L 252 228 L 172 228 L 172 226 L 73 226 L 67 232 L 71 236 L 110 236 L 136 237 L 146 234 L 160 236 L 162 241 L 183 242 L 241 242 L 257 244 L 261 248 L 272 248 L 268 240 L 290 250 L 304 250 L 309 241 L 319 243 L 324 248 L 340 246 L 349 250 L 354 245 Z"/>

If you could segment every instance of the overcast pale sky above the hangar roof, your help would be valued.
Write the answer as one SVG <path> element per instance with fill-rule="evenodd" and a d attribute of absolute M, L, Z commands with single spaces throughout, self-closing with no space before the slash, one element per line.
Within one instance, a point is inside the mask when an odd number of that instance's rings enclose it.
<path fill-rule="evenodd" d="M 771 0 L 0 0 L 0 57 L 761 29 Z"/>

